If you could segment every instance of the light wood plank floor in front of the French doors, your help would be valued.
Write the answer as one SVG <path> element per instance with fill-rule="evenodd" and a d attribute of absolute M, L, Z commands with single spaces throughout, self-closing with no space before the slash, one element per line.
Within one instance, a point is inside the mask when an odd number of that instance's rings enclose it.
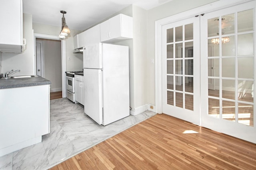
<path fill-rule="evenodd" d="M 255 170 L 256 144 L 158 114 L 50 170 L 86 169 Z"/>

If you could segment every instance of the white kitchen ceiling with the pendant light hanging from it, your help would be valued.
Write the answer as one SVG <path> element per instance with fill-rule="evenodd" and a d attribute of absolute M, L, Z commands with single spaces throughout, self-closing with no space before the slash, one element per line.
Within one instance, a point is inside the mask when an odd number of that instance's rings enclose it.
<path fill-rule="evenodd" d="M 23 13 L 32 14 L 33 23 L 61 27 L 62 14 L 70 29 L 84 30 L 134 4 L 145 10 L 172 0 L 23 0 Z"/>

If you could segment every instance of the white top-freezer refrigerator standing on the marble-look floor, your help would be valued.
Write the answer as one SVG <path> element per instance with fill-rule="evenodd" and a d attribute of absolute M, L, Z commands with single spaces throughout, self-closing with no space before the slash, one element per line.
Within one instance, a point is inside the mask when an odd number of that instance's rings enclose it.
<path fill-rule="evenodd" d="M 100 125 L 130 115 L 128 46 L 88 45 L 83 57 L 84 113 Z"/>

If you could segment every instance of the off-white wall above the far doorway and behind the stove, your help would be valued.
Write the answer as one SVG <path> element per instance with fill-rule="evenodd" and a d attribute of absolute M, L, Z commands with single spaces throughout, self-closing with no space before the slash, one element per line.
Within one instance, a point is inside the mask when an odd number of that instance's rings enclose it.
<path fill-rule="evenodd" d="M 33 23 L 34 33 L 46 34 L 46 35 L 56 35 L 58 36 L 61 30 L 61 27 L 55 27 L 50 25 L 44 25 L 40 23 Z M 82 70 L 83 68 L 83 57 L 81 54 L 73 54 L 74 35 L 80 33 L 79 30 L 70 29 L 70 35 L 66 38 L 66 70 L 67 71 L 76 71 Z M 70 58 L 70 60 L 68 60 Z"/>

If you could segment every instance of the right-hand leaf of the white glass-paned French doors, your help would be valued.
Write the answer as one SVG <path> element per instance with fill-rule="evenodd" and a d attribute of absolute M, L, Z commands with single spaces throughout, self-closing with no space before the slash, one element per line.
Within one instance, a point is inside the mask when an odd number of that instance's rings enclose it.
<path fill-rule="evenodd" d="M 253 1 L 205 14 L 200 28 L 201 125 L 253 143 L 255 8 Z M 214 87 L 206 82 L 215 82 Z"/>

